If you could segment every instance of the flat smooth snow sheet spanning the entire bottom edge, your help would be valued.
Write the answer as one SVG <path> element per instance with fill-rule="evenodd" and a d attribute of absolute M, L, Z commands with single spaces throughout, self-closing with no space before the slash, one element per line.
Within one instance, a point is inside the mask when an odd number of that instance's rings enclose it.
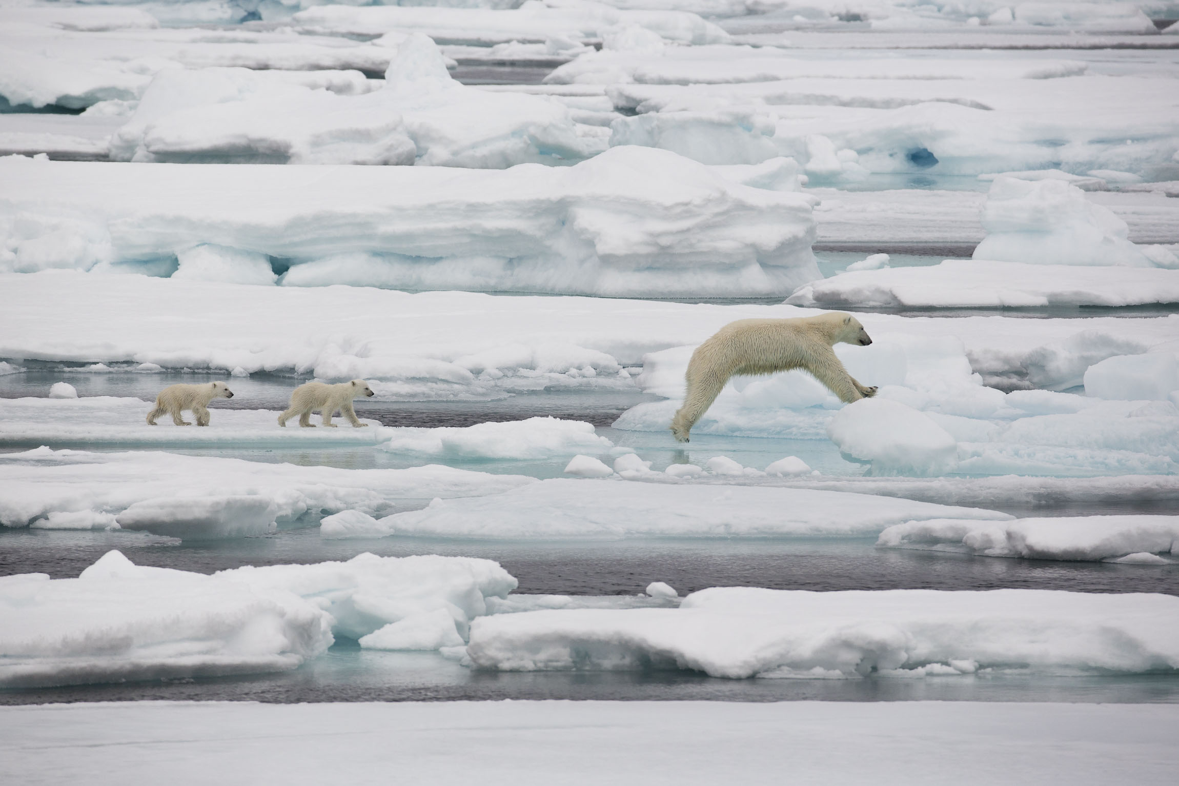
<path fill-rule="evenodd" d="M 0 707 L 4 772 L 121 786 L 409 782 L 963 786 L 1173 780 L 1179 708 L 1006 701 L 126 701 Z M 312 733 L 309 733 L 312 729 Z M 331 729 L 325 733 L 322 729 Z M 521 734 L 520 729 L 528 729 Z M 857 741 L 848 754 L 848 739 Z M 914 740 L 921 740 L 921 744 Z M 57 755 L 45 755 L 45 749 Z M 167 757 L 156 755 L 160 749 Z M 706 752 L 706 754 L 702 754 Z M 914 761 L 920 760 L 921 766 Z"/>

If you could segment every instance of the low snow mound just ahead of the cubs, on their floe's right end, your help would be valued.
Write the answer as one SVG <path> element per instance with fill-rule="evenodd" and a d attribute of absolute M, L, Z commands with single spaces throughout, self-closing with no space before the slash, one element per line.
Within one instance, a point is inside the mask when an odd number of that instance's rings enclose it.
<path fill-rule="evenodd" d="M 602 453 L 614 447 L 593 425 L 555 417 L 477 423 L 466 428 L 396 429 L 381 445 L 390 453 L 446 458 L 549 458 L 582 450 Z"/>

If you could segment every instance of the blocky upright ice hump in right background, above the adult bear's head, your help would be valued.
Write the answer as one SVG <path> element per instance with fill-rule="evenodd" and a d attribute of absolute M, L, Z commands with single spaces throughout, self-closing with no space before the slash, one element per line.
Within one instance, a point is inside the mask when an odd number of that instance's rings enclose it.
<path fill-rule="evenodd" d="M 1126 239 L 1126 222 L 1061 180 L 996 178 L 987 194 L 982 225 L 987 237 L 975 247 L 975 259 L 1153 266 Z"/>

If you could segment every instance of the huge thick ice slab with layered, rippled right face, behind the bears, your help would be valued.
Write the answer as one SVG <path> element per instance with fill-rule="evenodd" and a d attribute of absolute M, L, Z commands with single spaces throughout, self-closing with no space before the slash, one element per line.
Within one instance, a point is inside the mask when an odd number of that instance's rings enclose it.
<path fill-rule="evenodd" d="M 784 293 L 819 277 L 810 197 L 645 147 L 502 172 L 9 157 L 0 177 L 0 269 L 18 272 L 166 276 L 179 258 L 190 278 L 256 265 L 268 283 L 269 257 L 289 265 L 286 286 L 667 297 Z"/>

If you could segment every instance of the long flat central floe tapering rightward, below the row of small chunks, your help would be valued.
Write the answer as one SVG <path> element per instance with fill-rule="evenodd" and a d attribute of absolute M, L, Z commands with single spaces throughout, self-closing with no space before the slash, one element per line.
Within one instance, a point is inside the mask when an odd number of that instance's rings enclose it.
<path fill-rule="evenodd" d="M 390 534 L 477 540 L 594 537 L 862 537 L 949 508 L 880 496 L 780 488 L 547 480 L 503 494 L 435 500 L 381 520 Z M 1007 514 L 957 508 L 1006 521 Z"/>

